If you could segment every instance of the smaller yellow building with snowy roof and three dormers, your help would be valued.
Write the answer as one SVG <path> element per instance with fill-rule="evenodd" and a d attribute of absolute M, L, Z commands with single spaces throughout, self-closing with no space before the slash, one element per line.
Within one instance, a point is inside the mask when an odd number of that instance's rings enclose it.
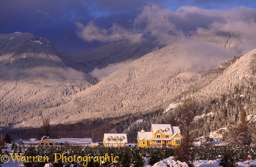
<path fill-rule="evenodd" d="M 125 133 L 104 133 L 103 145 L 105 147 L 122 147 L 127 145 Z"/>

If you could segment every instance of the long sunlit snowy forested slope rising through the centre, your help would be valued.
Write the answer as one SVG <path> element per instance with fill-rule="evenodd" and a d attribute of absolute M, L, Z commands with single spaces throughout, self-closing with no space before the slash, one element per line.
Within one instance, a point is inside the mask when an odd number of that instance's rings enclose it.
<path fill-rule="evenodd" d="M 145 114 L 167 108 L 193 81 L 227 56 L 231 57 L 239 44 L 239 38 L 232 34 L 213 34 L 211 37 L 215 40 L 209 42 L 204 37 L 193 37 L 148 53 L 98 84 L 68 97 L 68 103 L 41 109 L 42 113 L 51 116 L 52 124 L 58 124 Z M 227 47 L 226 43 L 232 45 Z M 205 48 L 224 56 L 204 53 Z M 29 121 L 29 124 L 34 122 L 33 119 Z"/>

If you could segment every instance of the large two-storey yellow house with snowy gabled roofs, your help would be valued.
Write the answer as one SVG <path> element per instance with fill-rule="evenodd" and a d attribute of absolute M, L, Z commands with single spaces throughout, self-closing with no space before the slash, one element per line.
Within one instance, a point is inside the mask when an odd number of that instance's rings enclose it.
<path fill-rule="evenodd" d="M 169 124 L 152 124 L 150 132 L 141 130 L 137 135 L 139 147 L 148 146 L 179 146 L 182 142 L 180 126 Z"/>

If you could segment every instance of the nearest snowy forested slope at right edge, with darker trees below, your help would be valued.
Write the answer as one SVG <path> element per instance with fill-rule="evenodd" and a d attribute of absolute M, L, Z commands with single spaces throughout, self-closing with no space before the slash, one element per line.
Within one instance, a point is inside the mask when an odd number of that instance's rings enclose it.
<path fill-rule="evenodd" d="M 245 108 L 248 122 L 255 128 L 255 60 L 256 49 L 241 57 L 232 57 L 196 79 L 182 92 L 198 102 L 194 126 L 204 128 L 197 128 L 197 137 L 231 124 L 238 125 L 241 108 Z M 176 103 L 183 103 L 183 100 L 177 98 Z M 165 114 L 179 118 L 177 111 L 173 107 Z"/>

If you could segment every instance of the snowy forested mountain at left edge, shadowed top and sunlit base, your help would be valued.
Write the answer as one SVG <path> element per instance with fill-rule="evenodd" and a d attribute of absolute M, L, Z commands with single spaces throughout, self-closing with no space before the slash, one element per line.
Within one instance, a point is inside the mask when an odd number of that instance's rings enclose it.
<path fill-rule="evenodd" d="M 56 107 L 65 103 L 63 97 L 92 86 L 94 79 L 65 66 L 58 55 L 45 38 L 0 35 L 1 126 L 40 117 L 39 108 Z"/>

